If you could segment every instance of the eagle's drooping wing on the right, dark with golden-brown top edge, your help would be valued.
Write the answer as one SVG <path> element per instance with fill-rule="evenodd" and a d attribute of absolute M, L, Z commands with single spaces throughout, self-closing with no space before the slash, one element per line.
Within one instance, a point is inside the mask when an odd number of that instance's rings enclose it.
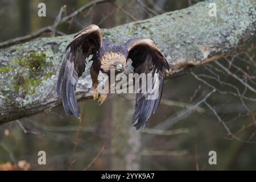
<path fill-rule="evenodd" d="M 155 113 L 156 109 L 158 109 L 163 91 L 164 68 L 168 70 L 170 68 L 166 61 L 166 57 L 164 57 L 151 39 L 131 39 L 127 41 L 125 46 L 128 51 L 127 58 L 130 58 L 133 61 L 131 65 L 134 67 L 134 72 L 138 74 L 152 73 L 152 88 L 156 86 L 159 93 L 154 99 L 149 97 L 152 94 L 149 90 L 147 90 L 146 93 L 136 94 L 133 122 L 138 119 L 138 122 L 134 125 L 138 130 L 141 126 L 146 124 L 148 118 L 150 118 L 150 116 Z M 158 74 L 159 79 L 157 81 L 154 80 L 155 73 Z"/>

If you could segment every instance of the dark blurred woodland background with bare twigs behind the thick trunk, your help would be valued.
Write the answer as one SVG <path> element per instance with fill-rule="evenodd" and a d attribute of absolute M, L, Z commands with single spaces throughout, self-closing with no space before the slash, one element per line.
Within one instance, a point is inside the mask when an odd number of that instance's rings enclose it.
<path fill-rule="evenodd" d="M 44 0 L 47 16 L 41 18 L 40 2 L 0 0 L 0 52 L 36 38 L 74 34 L 89 24 L 113 28 L 202 1 Z M 253 13 L 256 17 L 255 9 Z M 255 30 L 256 24 L 253 26 Z M 162 33 L 152 32 L 156 36 Z M 180 74 L 168 77 L 159 109 L 144 132 L 132 127 L 133 94 L 112 94 L 101 106 L 88 97 L 79 102 L 80 120 L 66 116 L 58 101 L 59 106 L 3 123 L 0 170 L 255 170 L 255 32 L 243 40 L 218 61 L 188 65 Z M 183 46 L 174 45 L 175 49 Z M 2 80 L 5 72 L 8 70 L 0 64 Z M 46 165 L 38 164 L 38 151 L 42 150 L 47 154 Z M 209 151 L 217 152 L 217 165 L 208 163 Z"/>

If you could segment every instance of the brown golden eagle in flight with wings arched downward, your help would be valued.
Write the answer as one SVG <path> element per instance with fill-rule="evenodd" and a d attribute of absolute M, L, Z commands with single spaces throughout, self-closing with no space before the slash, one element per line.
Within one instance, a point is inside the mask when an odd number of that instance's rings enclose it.
<path fill-rule="evenodd" d="M 63 56 L 59 78 L 57 81 L 57 94 L 62 97 L 63 107 L 67 115 L 80 117 L 79 105 L 75 96 L 76 82 L 85 71 L 85 59 L 92 55 L 90 76 L 93 82 L 93 98 L 100 104 L 107 97 L 106 93 L 98 94 L 98 74 L 101 71 L 110 75 L 110 69 L 115 73 L 121 73 L 126 68 L 127 60 L 131 59 L 134 73 L 157 73 L 159 76 L 158 98 L 147 100 L 149 93 L 137 93 L 135 111 L 133 114 L 134 127 L 139 130 L 145 126 L 148 118 L 158 109 L 164 81 L 164 68 L 170 69 L 166 58 L 154 45 L 151 39 L 135 38 L 126 43 L 115 46 L 108 40 L 102 40 L 98 26 L 91 24 L 78 32 L 72 42 L 67 46 Z M 152 78 L 153 79 L 153 78 Z M 152 80 L 154 85 L 154 80 Z"/>

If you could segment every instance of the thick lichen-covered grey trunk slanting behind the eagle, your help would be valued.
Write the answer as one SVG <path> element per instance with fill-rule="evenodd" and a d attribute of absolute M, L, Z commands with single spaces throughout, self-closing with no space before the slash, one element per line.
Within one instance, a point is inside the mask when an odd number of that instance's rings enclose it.
<path fill-rule="evenodd" d="M 210 17 L 209 3 L 217 16 Z M 105 39 L 120 44 L 148 37 L 166 55 L 174 76 L 188 66 L 214 61 L 232 52 L 255 34 L 255 0 L 216 0 L 197 3 L 138 22 L 102 29 Z M 59 105 L 56 94 L 61 56 L 72 35 L 39 38 L 0 50 L 0 123 L 13 121 Z M 92 98 L 90 64 L 79 79 L 79 99 Z"/>

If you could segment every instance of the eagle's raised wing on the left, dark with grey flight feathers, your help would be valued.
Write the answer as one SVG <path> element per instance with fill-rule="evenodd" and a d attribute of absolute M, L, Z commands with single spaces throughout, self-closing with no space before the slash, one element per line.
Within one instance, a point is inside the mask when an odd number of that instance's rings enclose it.
<path fill-rule="evenodd" d="M 92 24 L 78 32 L 67 46 L 57 81 L 57 94 L 62 97 L 64 110 L 68 115 L 79 118 L 75 85 L 85 70 L 85 59 L 89 55 L 93 55 L 94 59 L 101 44 L 100 28 Z"/>

